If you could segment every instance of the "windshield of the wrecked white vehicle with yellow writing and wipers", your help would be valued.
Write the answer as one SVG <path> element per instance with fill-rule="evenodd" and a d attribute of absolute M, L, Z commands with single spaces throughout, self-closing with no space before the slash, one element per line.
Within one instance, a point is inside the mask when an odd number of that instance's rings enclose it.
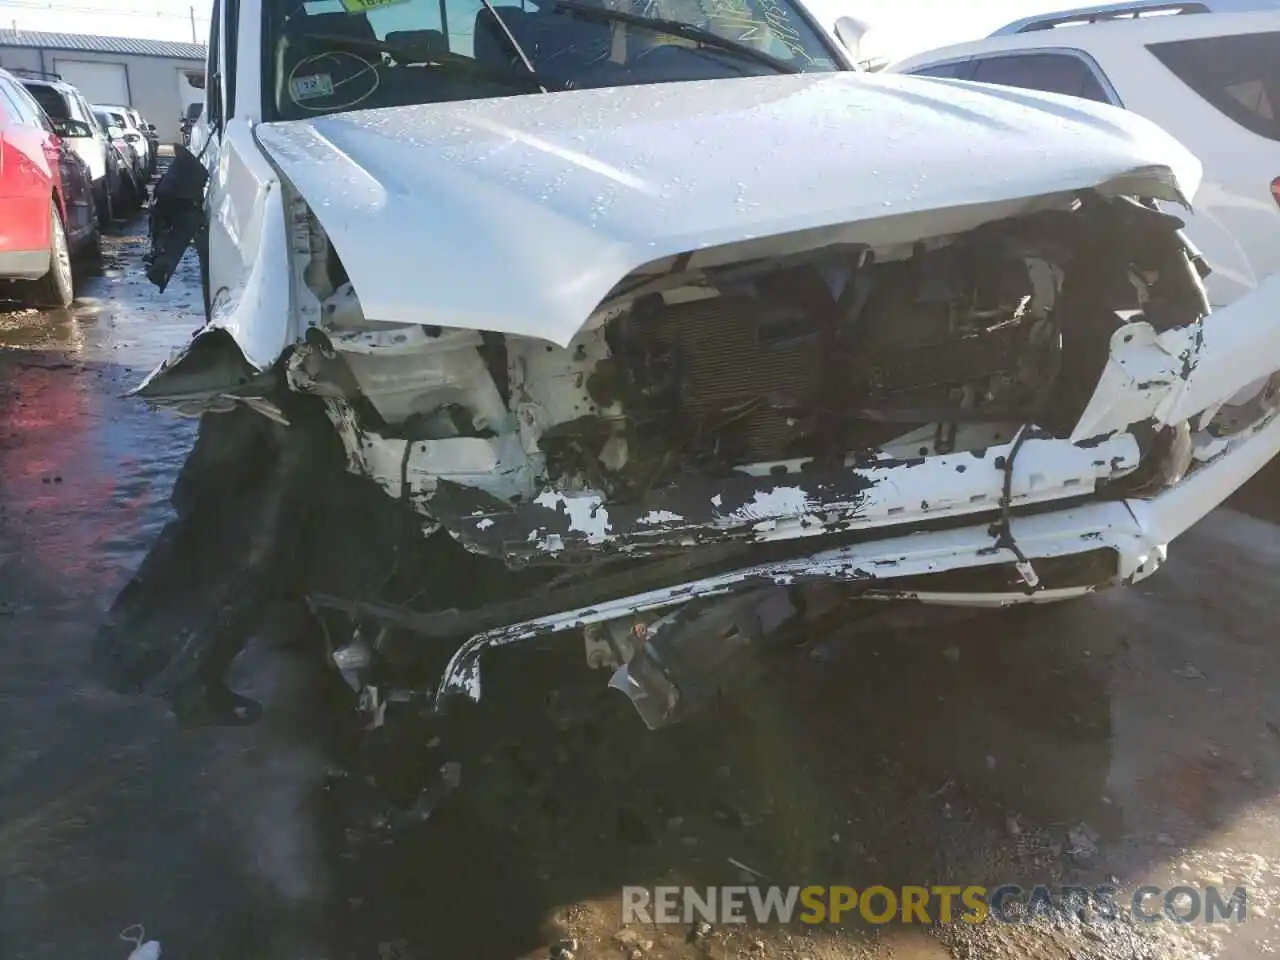
<path fill-rule="evenodd" d="M 794 0 L 507 0 L 494 12 L 500 23 L 481 0 L 269 3 L 274 115 L 840 69 Z"/>

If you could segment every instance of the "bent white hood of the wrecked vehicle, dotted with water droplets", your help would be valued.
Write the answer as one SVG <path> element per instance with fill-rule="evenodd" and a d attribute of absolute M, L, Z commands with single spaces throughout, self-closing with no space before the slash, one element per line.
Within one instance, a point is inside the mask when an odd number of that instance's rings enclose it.
<path fill-rule="evenodd" d="M 1176 200 L 1201 175 L 1117 109 L 854 73 L 358 110 L 256 136 L 366 316 L 559 344 L 618 280 L 686 251 L 1125 178 Z"/>

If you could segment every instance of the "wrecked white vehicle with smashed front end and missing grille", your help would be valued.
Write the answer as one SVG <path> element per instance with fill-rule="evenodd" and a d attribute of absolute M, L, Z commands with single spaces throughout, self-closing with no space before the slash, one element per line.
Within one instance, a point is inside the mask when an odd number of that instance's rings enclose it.
<path fill-rule="evenodd" d="M 210 682 L 288 580 L 370 726 L 552 634 L 662 726 L 823 595 L 1139 581 L 1280 451 L 1280 278 L 1210 314 L 1152 206 L 1201 165 L 1134 113 L 852 72 L 788 0 L 314 6 L 216 0 L 156 187 L 207 324 L 137 394 L 206 412 L 187 529 L 252 524 L 204 616 L 159 566 L 118 609 L 137 686 Z"/>

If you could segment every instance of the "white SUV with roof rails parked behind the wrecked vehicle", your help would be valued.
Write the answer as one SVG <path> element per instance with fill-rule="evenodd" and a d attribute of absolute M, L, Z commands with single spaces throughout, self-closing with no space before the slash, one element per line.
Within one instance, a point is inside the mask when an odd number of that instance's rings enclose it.
<path fill-rule="evenodd" d="M 1251 12 L 1231 13 L 1254 8 Z M 1068 93 L 1155 120 L 1204 165 L 1180 212 L 1221 306 L 1280 271 L 1280 4 L 1130 3 L 1011 23 L 888 68 Z"/>

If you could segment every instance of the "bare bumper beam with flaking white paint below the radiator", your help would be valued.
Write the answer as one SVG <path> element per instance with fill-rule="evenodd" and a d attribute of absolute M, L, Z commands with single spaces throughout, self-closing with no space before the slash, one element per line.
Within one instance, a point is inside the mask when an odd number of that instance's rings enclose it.
<path fill-rule="evenodd" d="M 1011 476 L 1010 506 L 1025 507 L 1092 493 L 1098 483 L 1135 470 L 1140 451 L 1132 435 L 1117 434 L 1087 445 L 1030 439 L 1016 457 L 1034 463 Z M 483 494 L 442 483 L 431 511 L 463 544 L 507 558 L 767 543 L 991 511 L 1001 506 L 1011 458 L 1012 442 L 782 476 L 698 477 L 627 504 L 594 493 L 543 493 L 499 512 L 475 508 Z"/>

